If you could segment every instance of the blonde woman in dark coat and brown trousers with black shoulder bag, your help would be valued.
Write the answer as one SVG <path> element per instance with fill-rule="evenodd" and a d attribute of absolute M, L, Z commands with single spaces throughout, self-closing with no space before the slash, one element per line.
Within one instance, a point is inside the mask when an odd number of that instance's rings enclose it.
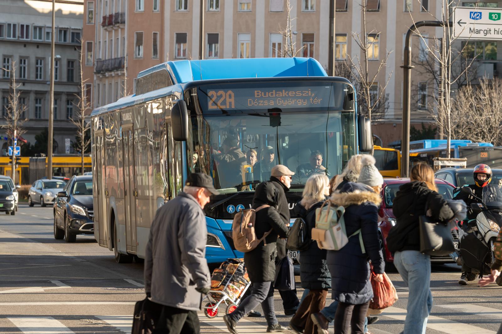
<path fill-rule="evenodd" d="M 311 175 L 303 190 L 302 200 L 295 206 L 295 213 L 305 220 L 307 237 L 315 227 L 315 211 L 330 194 L 329 179 L 326 174 Z M 300 278 L 302 287 L 309 293 L 298 306 L 290 327 L 297 333 L 313 334 L 314 323 L 311 314 L 319 312 L 326 303 L 331 276 L 326 263 L 326 250 L 319 249 L 316 242 L 311 242 L 308 249 L 300 252 Z"/>

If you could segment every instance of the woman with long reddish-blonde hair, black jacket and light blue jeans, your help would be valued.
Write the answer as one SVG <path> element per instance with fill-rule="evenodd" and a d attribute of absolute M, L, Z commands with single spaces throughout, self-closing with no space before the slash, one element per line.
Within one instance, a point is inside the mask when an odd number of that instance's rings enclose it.
<path fill-rule="evenodd" d="M 438 194 L 434 171 L 429 165 L 413 166 L 410 181 L 399 187 L 394 198 L 397 223 L 389 232 L 387 244 L 394 253 L 394 265 L 409 287 L 404 332 L 423 334 L 432 309 L 431 258 L 420 252 L 419 217 L 427 215 L 435 221 L 447 222 L 454 214 Z"/>

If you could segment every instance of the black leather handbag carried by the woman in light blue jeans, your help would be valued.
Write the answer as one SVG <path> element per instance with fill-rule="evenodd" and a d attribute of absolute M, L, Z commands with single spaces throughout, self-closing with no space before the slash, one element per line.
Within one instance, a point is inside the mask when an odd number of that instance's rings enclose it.
<path fill-rule="evenodd" d="M 451 228 L 427 216 L 420 216 L 420 252 L 433 256 L 444 256 L 455 251 Z"/>

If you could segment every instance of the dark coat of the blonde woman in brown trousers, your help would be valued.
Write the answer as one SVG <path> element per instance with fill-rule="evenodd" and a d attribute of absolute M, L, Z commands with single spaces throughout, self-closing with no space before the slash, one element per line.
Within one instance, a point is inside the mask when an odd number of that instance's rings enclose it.
<path fill-rule="evenodd" d="M 310 239 L 312 228 L 315 227 L 315 210 L 321 207 L 322 203 L 317 202 L 305 209 L 298 203 L 294 211 L 305 220 L 307 225 L 307 238 Z M 317 247 L 317 242 L 312 241 L 309 248 L 300 252 L 300 280 L 302 287 L 310 290 L 323 290 L 330 288 L 331 274 L 326 262 L 326 250 Z"/>

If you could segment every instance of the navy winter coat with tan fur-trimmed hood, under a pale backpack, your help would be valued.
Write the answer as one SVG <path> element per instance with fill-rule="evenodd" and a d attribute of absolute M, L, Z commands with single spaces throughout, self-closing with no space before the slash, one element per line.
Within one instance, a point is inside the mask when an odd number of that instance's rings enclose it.
<path fill-rule="evenodd" d="M 365 248 L 363 253 L 359 236 L 354 235 L 342 249 L 328 250 L 332 298 L 352 305 L 363 304 L 373 297 L 368 259 L 375 273 L 383 273 L 385 267 L 378 235 L 378 206 L 382 199 L 368 186 L 348 182 L 340 192 L 333 193 L 331 201 L 334 206 L 345 208 L 347 235 L 361 229 Z"/>

